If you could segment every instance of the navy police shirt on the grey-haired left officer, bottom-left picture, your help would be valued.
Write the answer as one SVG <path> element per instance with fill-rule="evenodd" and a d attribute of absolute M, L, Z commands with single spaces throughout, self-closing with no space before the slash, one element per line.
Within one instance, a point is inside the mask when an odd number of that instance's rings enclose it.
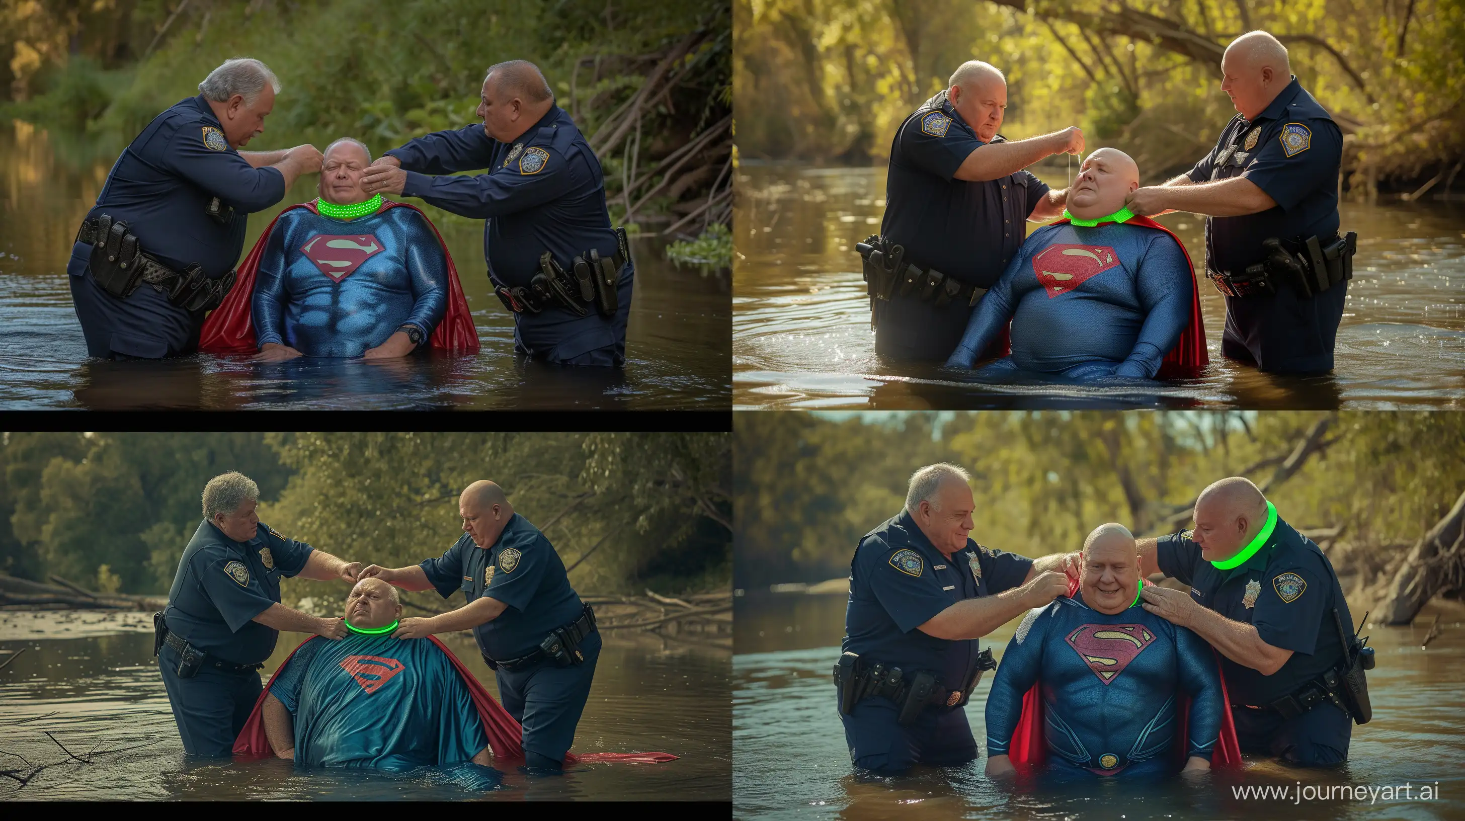
<path fill-rule="evenodd" d="M 274 652 L 280 630 L 253 617 L 280 603 L 280 579 L 303 570 L 311 550 L 264 523 L 255 538 L 237 542 L 202 520 L 168 591 L 168 630 L 224 661 L 259 664 Z"/>

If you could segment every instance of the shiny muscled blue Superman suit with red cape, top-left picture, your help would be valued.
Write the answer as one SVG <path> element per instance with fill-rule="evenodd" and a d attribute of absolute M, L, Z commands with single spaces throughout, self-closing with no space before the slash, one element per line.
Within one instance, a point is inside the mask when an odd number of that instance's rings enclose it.
<path fill-rule="evenodd" d="M 437 227 L 404 202 L 337 220 L 311 201 L 281 211 L 255 242 L 204 323 L 199 350 L 253 353 L 283 343 L 306 356 L 360 356 L 406 324 L 431 347 L 479 349 Z"/>

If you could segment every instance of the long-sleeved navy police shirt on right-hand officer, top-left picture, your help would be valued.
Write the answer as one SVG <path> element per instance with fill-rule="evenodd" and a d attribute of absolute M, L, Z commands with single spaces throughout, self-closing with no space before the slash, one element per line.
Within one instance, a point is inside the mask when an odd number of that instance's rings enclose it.
<path fill-rule="evenodd" d="M 558 106 L 513 144 L 475 123 L 419 136 L 387 154 L 407 172 L 404 196 L 486 220 L 483 258 L 501 286 L 527 286 L 545 251 L 567 271 L 571 258 L 592 248 L 602 258 L 617 252 L 601 161 Z M 426 176 L 479 169 L 488 172 Z"/>

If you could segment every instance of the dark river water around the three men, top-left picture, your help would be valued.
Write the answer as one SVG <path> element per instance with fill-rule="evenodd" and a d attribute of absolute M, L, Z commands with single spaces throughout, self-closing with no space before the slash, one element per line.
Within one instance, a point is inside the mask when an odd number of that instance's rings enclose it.
<path fill-rule="evenodd" d="M 624 371 L 558 368 L 514 355 L 513 318 L 483 273 L 482 221 L 420 201 L 459 267 L 482 350 L 396 361 L 195 355 L 163 362 L 89 359 L 66 283 L 82 216 L 114 154 L 57 151 L 48 132 L 0 123 L 0 408 L 167 409 L 727 409 L 730 277 L 677 268 L 665 240 L 631 240 L 636 295 Z M 81 151 L 81 157 L 73 155 Z M 60 155 L 67 157 L 63 160 Z M 286 205 L 315 196 L 303 177 L 249 217 L 245 251 Z"/>

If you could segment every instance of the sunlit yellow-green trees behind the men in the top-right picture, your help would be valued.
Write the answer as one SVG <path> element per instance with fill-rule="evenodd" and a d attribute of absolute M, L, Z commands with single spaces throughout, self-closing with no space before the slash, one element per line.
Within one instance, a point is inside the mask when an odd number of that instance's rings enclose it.
<path fill-rule="evenodd" d="M 1004 133 L 1081 125 L 1160 177 L 1235 113 L 1226 43 L 1282 38 L 1345 132 L 1348 185 L 1449 172 L 1465 155 L 1462 0 L 734 0 L 741 157 L 864 163 L 958 63 L 1008 75 Z"/>

